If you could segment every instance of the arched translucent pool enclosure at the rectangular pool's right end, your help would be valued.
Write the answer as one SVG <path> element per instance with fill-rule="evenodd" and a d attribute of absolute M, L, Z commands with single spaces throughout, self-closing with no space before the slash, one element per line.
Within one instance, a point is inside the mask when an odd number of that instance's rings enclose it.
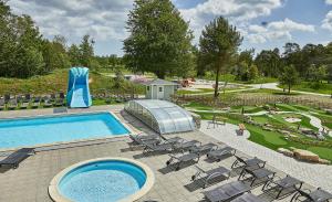
<path fill-rule="evenodd" d="M 166 100 L 131 100 L 125 110 L 158 134 L 191 131 L 196 128 L 194 118 L 187 110 Z"/>

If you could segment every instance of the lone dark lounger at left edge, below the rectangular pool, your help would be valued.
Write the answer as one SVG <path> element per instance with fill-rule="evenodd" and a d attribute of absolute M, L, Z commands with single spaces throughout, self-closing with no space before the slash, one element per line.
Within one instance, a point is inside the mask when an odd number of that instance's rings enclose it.
<path fill-rule="evenodd" d="M 3 166 L 10 166 L 11 168 L 18 168 L 20 162 L 22 162 L 24 159 L 27 159 L 29 156 L 34 155 L 34 148 L 22 148 L 10 156 L 8 156 L 6 159 L 0 161 L 0 167 Z"/>

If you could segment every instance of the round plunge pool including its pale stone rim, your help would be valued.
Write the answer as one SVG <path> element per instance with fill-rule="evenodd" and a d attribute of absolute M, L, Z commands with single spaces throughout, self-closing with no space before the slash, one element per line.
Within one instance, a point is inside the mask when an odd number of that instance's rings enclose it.
<path fill-rule="evenodd" d="M 100 158 L 73 164 L 56 174 L 49 185 L 55 202 L 134 201 L 149 191 L 153 171 L 124 158 Z"/>

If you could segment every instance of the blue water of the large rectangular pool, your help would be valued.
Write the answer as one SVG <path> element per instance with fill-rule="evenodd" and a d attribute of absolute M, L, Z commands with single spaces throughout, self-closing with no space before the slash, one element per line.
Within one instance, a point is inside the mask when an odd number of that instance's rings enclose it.
<path fill-rule="evenodd" d="M 0 119 L 0 149 L 126 135 L 110 113 Z"/>

